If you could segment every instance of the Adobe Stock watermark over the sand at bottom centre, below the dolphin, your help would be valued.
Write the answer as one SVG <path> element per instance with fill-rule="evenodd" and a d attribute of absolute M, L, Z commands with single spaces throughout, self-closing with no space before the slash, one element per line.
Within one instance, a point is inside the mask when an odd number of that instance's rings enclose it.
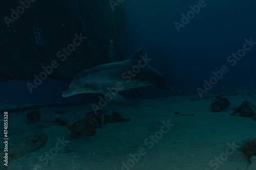
<path fill-rule="evenodd" d="M 150 135 L 148 138 L 146 138 L 144 140 L 144 144 L 148 149 L 152 149 L 154 147 L 154 145 L 163 138 L 163 135 L 168 133 L 170 128 L 174 126 L 174 124 L 170 124 L 169 120 L 167 120 L 167 123 L 165 123 L 164 121 L 162 122 L 162 127 L 159 131 L 157 131 L 154 135 Z M 140 147 L 138 149 L 137 153 L 134 154 L 129 154 L 129 156 L 131 157 L 130 159 L 128 159 L 125 162 L 121 162 L 122 167 L 121 170 L 130 170 L 136 162 L 140 161 L 141 156 L 146 155 L 146 149 L 143 147 Z"/>

